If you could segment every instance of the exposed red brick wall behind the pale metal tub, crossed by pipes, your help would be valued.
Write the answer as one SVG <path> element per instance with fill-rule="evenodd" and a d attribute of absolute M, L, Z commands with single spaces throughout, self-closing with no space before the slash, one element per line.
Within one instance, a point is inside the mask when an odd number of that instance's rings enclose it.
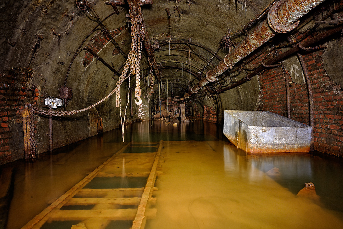
<path fill-rule="evenodd" d="M 314 149 L 343 156 L 343 90 L 334 83 L 323 68 L 316 51 L 304 55 L 314 97 Z M 291 77 L 288 77 L 292 82 Z M 263 95 L 263 110 L 287 117 L 286 88 L 282 69 L 274 68 L 259 75 Z M 291 118 L 309 124 L 309 103 L 306 83 L 292 82 L 290 88 Z"/>

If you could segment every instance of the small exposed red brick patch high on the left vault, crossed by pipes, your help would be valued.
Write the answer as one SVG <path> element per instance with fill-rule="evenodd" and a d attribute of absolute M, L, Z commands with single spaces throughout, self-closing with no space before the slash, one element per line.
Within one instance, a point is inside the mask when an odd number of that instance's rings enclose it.
<path fill-rule="evenodd" d="M 124 29 L 126 29 L 127 26 L 121 26 L 118 29 L 109 31 L 113 37 L 115 37 L 117 34 L 121 33 Z M 92 39 L 87 43 L 86 47 L 90 48 L 92 51 L 94 51 L 96 54 L 102 50 L 105 45 L 110 42 L 108 40 L 109 38 L 106 36 L 104 31 L 100 31 L 96 33 Z M 83 57 L 82 63 L 83 66 L 87 67 L 90 63 L 93 62 L 94 56 L 90 54 L 88 51 L 85 51 L 85 55 Z"/>

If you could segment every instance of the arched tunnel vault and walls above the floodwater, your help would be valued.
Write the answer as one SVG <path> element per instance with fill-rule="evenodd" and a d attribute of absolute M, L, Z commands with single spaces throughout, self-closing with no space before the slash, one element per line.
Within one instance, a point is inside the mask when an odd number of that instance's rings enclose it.
<path fill-rule="evenodd" d="M 300 117 L 296 113 L 300 108 L 294 107 L 292 101 L 288 102 L 287 109 L 287 104 L 283 102 L 286 101 L 284 94 L 277 94 L 279 100 L 275 98 L 275 103 L 269 103 L 273 100 L 269 94 L 277 95 L 273 92 L 275 86 L 268 86 L 273 79 L 267 82 L 265 78 L 270 73 L 276 77 L 281 71 L 284 79 L 286 74 L 292 72 L 280 65 L 288 56 L 302 52 L 305 61 L 310 63 L 305 55 L 322 52 L 325 47 L 318 46 L 312 51 L 309 47 L 322 45 L 333 38 L 338 40 L 342 1 L 324 1 L 319 7 L 313 6 L 310 13 L 301 17 L 296 29 L 276 34 L 273 39 L 260 44 L 250 54 L 218 73 L 218 64 L 229 58 L 227 54 L 241 46 L 241 41 L 246 40 L 260 23 L 268 20 L 268 13 L 276 2 L 2 1 L 0 163 L 24 157 L 21 110 L 25 105 L 33 106 L 36 111 L 45 110 L 40 111 L 39 115 L 34 114 L 33 118 L 31 131 L 34 131 L 37 154 L 49 150 L 46 134 L 50 133 L 51 114 L 54 129 L 50 136 L 54 136 L 54 149 L 118 128 L 124 114 L 126 121 L 123 125 L 138 119 L 149 120 L 153 112 L 161 109 L 159 105 L 162 103 L 168 107 L 174 106 L 175 113 L 180 103 L 186 104 L 188 116 L 216 123 L 222 123 L 223 111 L 227 109 L 273 111 L 274 105 L 282 103 L 284 108 L 277 110 L 279 114 L 287 116 L 288 110 L 288 114 L 293 114 L 293 119 L 309 124 L 310 112 L 306 111 L 307 116 Z M 298 1 L 290 2 L 295 4 Z M 308 4 L 313 2 L 309 1 Z M 320 2 L 317 1 L 318 4 Z M 139 8 L 141 16 L 137 17 Z M 137 26 L 132 27 L 134 19 Z M 127 75 L 122 75 L 130 56 L 132 28 L 138 31 L 135 37 L 142 40 L 143 48 L 137 79 L 132 75 L 129 81 Z M 294 40 L 291 42 L 287 37 Z M 292 48 L 292 45 L 295 47 Z M 324 58 L 327 66 L 330 62 L 327 59 L 332 57 Z M 227 60 L 224 62 L 228 64 Z M 317 57 L 315 62 L 319 67 L 322 60 Z M 331 69 L 330 75 L 335 75 Z M 215 72 L 216 78 L 202 85 L 204 87 L 191 90 L 201 84 L 199 82 L 204 81 L 206 76 L 209 77 L 209 72 Z M 139 84 L 136 84 L 137 80 Z M 340 82 L 340 76 L 336 76 L 335 81 Z M 283 87 L 292 85 L 292 81 L 287 85 L 285 79 L 282 82 L 285 85 Z M 118 85 L 120 90 L 114 93 Z M 330 86 L 328 90 L 336 91 L 335 95 L 340 96 L 340 89 L 335 86 Z M 140 96 L 137 96 L 138 92 L 135 94 L 136 88 L 141 89 Z M 287 90 L 292 88 L 288 87 Z M 190 96 L 195 91 L 197 93 Z M 111 93 L 114 95 L 84 110 Z M 189 98 L 184 99 L 186 93 Z M 120 104 L 116 94 L 121 99 Z M 142 100 L 141 104 L 135 103 L 136 96 Z M 63 106 L 48 112 L 45 106 L 48 97 L 61 98 Z M 308 110 L 308 102 L 307 105 L 305 103 L 303 106 Z M 118 105 L 122 107 L 121 112 Z M 332 108 L 333 117 L 341 114 L 340 109 Z M 73 110 L 82 112 L 65 115 Z M 64 113 L 55 116 L 59 112 Z M 335 134 L 340 136 L 337 131 Z M 317 144 L 318 150 L 320 144 Z M 342 149 L 336 151 L 341 152 Z"/>

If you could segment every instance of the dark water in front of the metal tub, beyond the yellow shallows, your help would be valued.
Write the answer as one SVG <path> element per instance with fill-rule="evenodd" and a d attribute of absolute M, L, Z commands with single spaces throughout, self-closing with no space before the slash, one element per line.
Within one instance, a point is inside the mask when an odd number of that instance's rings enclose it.
<path fill-rule="evenodd" d="M 279 169 L 279 176 L 271 176 L 277 183 L 296 195 L 305 183 L 312 182 L 323 206 L 343 212 L 343 167 L 340 158 L 313 154 L 259 155 L 252 166 L 267 173 Z"/>

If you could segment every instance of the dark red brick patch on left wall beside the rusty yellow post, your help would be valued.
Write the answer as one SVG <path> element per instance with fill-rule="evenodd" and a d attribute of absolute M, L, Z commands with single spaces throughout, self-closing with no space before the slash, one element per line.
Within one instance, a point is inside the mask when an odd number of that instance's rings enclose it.
<path fill-rule="evenodd" d="M 0 164 L 24 157 L 21 109 L 37 100 L 38 88 L 27 86 L 30 68 L 12 68 L 0 73 Z"/>

